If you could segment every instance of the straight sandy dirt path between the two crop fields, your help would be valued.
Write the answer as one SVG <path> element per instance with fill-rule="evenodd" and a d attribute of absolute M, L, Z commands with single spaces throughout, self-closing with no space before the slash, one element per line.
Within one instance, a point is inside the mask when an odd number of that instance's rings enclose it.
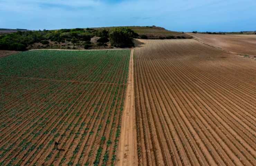
<path fill-rule="evenodd" d="M 135 121 L 135 95 L 134 95 L 134 64 L 133 52 L 131 49 L 131 56 L 129 62 L 129 74 L 127 81 L 126 97 L 124 103 L 124 112 L 122 115 L 121 136 L 119 148 L 117 153 L 117 165 L 132 166 L 138 165 L 137 156 L 137 136 L 136 121 Z"/>

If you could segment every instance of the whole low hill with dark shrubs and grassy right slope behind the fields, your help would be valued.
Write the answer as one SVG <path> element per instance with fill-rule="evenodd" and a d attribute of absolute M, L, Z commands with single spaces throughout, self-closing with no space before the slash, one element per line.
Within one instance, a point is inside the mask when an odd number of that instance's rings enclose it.
<path fill-rule="evenodd" d="M 111 30 L 110 30 L 111 29 Z M 1 29 L 0 29 L 1 31 Z M 106 49 L 134 46 L 132 38 L 186 39 L 183 32 L 166 30 L 156 26 L 74 28 L 56 30 L 2 29 L 0 49 Z M 13 32 L 13 33 L 10 33 Z"/>

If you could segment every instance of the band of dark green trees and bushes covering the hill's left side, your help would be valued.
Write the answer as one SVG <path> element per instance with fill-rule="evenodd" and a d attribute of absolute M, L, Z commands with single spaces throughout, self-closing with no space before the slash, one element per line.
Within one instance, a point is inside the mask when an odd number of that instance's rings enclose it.
<path fill-rule="evenodd" d="M 114 47 L 131 47 L 134 46 L 132 38 L 139 35 L 127 27 L 116 27 L 108 29 L 91 29 L 75 28 L 60 30 L 39 30 L 39 31 L 18 31 L 16 33 L 5 34 L 0 36 L 0 49 L 24 51 L 34 43 L 49 44 L 52 42 L 65 43 L 84 42 L 84 48 L 89 48 L 92 44 L 91 38 L 97 36 L 97 45 L 106 45 L 111 42 Z"/>

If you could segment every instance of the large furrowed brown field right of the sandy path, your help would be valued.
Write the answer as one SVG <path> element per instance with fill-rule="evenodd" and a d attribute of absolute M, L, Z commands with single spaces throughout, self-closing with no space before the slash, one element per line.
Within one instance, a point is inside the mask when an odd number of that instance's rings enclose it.
<path fill-rule="evenodd" d="M 136 45 L 139 165 L 256 165 L 256 62 L 194 39 Z"/>

